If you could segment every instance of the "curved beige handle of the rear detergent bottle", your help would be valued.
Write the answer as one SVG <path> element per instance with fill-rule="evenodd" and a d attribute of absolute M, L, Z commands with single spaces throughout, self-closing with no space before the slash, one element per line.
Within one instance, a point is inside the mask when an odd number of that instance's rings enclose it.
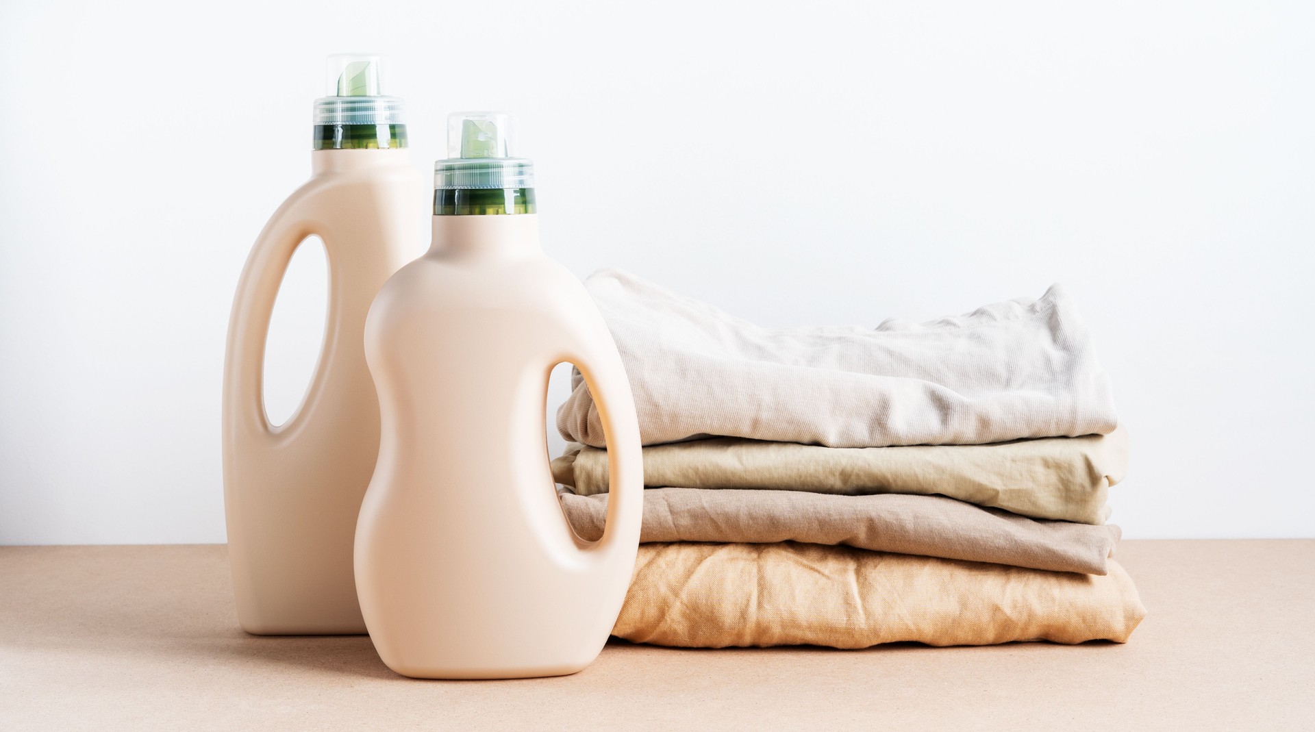
<path fill-rule="evenodd" d="M 322 364 L 317 361 L 310 377 L 306 396 L 287 422 L 275 427 L 264 410 L 264 351 L 270 335 L 270 319 L 274 304 L 283 286 L 283 276 L 288 271 L 293 252 L 308 237 L 323 239 L 321 222 L 304 216 L 297 205 L 300 196 L 289 198 L 270 217 L 260 230 L 255 246 L 247 256 L 242 276 L 238 279 L 237 294 L 233 298 L 233 314 L 229 318 L 229 339 L 225 364 L 224 400 L 225 413 L 234 417 L 229 428 L 239 430 L 252 436 L 272 436 L 291 430 L 297 424 L 305 405 L 317 390 Z M 329 247 L 325 247 L 329 259 Z M 330 272 L 333 263 L 329 262 Z M 331 289 L 331 288 L 330 288 Z M 334 332 L 335 313 L 330 306 L 326 315 L 326 332 Z M 322 360 L 322 357 L 320 359 Z"/>

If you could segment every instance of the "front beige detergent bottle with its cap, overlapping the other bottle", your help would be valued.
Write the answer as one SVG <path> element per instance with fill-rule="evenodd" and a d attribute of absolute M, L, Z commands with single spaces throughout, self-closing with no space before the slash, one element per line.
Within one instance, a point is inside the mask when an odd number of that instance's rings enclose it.
<path fill-rule="evenodd" d="M 454 114 L 435 164 L 433 243 L 370 310 L 379 465 L 356 524 L 356 591 L 380 657 L 421 678 L 575 673 L 602 649 L 634 570 L 639 427 L 611 334 L 539 248 L 534 173 L 509 118 Z M 544 400 L 575 364 L 611 470 L 596 541 L 554 490 Z"/>

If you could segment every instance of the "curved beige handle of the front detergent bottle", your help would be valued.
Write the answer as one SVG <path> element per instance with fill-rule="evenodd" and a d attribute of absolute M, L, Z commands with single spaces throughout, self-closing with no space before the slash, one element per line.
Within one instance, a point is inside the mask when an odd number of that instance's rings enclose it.
<path fill-rule="evenodd" d="M 610 334 L 608 335 L 608 344 L 611 347 Z M 644 499 L 639 419 L 635 415 L 630 380 L 614 350 L 598 355 L 597 360 L 584 357 L 573 363 L 593 394 L 608 446 L 608 518 L 602 538 L 586 549 L 598 552 L 608 561 L 611 555 L 627 547 L 634 551 L 639 545 Z"/>

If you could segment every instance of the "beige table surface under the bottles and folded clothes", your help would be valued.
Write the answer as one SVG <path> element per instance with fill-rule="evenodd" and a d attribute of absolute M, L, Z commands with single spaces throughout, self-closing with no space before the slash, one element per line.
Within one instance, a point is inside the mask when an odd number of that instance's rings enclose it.
<path fill-rule="evenodd" d="M 1315 540 L 1124 541 L 1126 645 L 690 651 L 398 677 L 237 627 L 222 545 L 0 547 L 0 729 L 1315 729 Z"/>

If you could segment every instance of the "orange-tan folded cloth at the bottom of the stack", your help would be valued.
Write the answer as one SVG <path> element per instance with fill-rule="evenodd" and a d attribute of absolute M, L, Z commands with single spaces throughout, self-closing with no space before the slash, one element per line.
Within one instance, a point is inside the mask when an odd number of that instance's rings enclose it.
<path fill-rule="evenodd" d="M 818 544 L 642 544 L 613 633 L 635 643 L 988 645 L 1128 640 L 1145 616 L 1105 577 Z"/>

